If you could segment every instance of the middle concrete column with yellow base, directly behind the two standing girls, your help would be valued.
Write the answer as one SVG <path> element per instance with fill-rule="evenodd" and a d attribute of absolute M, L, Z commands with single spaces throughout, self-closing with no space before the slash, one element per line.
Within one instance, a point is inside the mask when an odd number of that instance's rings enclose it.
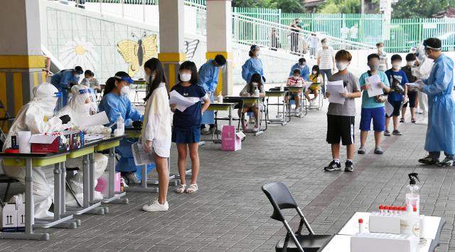
<path fill-rule="evenodd" d="M 159 54 L 168 77 L 168 88 L 178 83 L 178 68 L 185 61 L 183 49 L 183 0 L 159 1 Z"/>

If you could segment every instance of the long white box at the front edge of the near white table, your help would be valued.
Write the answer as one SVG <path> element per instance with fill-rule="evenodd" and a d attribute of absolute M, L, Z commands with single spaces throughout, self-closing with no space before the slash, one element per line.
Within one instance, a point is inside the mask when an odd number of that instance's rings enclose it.
<path fill-rule="evenodd" d="M 418 242 L 410 235 L 356 233 L 350 237 L 350 252 L 414 252 Z"/>

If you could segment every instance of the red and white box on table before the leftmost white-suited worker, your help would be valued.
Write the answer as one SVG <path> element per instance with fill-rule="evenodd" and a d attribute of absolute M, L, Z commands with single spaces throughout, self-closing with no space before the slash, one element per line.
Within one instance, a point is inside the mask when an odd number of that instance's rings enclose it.
<path fill-rule="evenodd" d="M 59 153 L 70 150 L 70 132 L 32 135 L 30 138 L 31 152 Z"/>

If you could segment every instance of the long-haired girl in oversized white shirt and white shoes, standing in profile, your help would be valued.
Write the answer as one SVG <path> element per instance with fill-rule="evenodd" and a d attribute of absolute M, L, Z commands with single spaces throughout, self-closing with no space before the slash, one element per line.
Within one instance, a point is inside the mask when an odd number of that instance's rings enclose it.
<path fill-rule="evenodd" d="M 153 154 L 158 172 L 159 195 L 151 204 L 142 206 L 144 211 L 167 211 L 166 196 L 169 185 L 168 157 L 171 151 L 171 110 L 169 109 L 166 75 L 157 58 L 144 64 L 147 95 L 142 127 L 141 144 L 146 152 Z"/>

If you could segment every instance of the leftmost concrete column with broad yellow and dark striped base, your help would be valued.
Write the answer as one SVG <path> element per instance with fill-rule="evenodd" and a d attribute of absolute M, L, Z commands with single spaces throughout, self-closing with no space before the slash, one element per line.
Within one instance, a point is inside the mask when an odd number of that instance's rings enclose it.
<path fill-rule="evenodd" d="M 39 1 L 0 3 L 0 100 L 11 115 L 16 115 L 33 98 L 33 87 L 45 81 Z M 0 110 L 0 117 L 3 114 Z"/>

